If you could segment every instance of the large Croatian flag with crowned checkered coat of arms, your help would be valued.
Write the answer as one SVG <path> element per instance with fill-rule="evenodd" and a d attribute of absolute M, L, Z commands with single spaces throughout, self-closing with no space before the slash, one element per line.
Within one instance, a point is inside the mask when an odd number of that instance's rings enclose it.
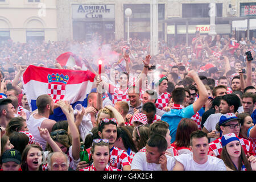
<path fill-rule="evenodd" d="M 28 66 L 22 76 L 22 84 L 31 110 L 37 109 L 36 98 L 48 94 L 56 103 L 59 100 L 87 106 L 87 95 L 92 89 L 95 74 L 90 71 L 74 71 L 69 69 L 51 69 Z M 60 107 L 54 110 L 49 118 L 55 121 L 65 120 Z"/>

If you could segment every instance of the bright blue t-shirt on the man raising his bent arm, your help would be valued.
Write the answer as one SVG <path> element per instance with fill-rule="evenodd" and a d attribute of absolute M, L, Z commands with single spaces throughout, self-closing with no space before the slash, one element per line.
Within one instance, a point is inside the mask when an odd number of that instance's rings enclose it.
<path fill-rule="evenodd" d="M 195 115 L 193 105 L 189 105 L 183 109 L 171 109 L 167 113 L 164 113 L 161 120 L 169 124 L 170 135 L 172 137 L 171 143 L 174 143 L 176 137 L 177 126 L 180 119 L 191 118 Z"/>

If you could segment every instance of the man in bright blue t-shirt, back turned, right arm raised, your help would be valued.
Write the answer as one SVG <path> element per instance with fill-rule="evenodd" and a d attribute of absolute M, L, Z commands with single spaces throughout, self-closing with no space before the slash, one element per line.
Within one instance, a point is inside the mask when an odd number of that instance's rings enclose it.
<path fill-rule="evenodd" d="M 192 104 L 184 108 L 186 94 L 184 88 L 176 88 L 172 92 L 172 100 L 174 101 L 174 108 L 164 113 L 162 116 L 162 121 L 166 121 L 170 127 L 170 135 L 172 137 L 171 143 L 175 141 L 177 125 L 180 122 L 181 118 L 191 118 L 204 106 L 205 102 L 208 99 L 208 92 L 205 88 L 200 77 L 195 71 L 189 71 L 188 76 L 193 78 L 197 88 L 199 90 L 199 98 Z M 176 94 L 175 94 L 176 93 Z"/>

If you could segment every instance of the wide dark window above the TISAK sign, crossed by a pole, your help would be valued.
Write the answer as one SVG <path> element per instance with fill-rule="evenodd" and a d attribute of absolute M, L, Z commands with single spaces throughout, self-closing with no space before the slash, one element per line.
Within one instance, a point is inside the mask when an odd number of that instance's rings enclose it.
<path fill-rule="evenodd" d="M 182 4 L 183 18 L 208 18 L 209 11 L 209 3 Z M 216 17 L 222 17 L 222 3 L 216 3 Z"/>

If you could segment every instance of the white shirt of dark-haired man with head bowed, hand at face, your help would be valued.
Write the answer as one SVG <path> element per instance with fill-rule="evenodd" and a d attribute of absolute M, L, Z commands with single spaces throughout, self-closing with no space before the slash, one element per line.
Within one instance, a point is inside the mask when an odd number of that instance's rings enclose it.
<path fill-rule="evenodd" d="M 167 157 L 167 169 L 172 171 L 175 166 L 175 159 L 169 155 Z M 146 152 L 137 152 L 133 157 L 133 162 L 131 163 L 131 170 L 139 169 L 141 171 L 162 171 L 161 164 L 147 163 Z"/>

